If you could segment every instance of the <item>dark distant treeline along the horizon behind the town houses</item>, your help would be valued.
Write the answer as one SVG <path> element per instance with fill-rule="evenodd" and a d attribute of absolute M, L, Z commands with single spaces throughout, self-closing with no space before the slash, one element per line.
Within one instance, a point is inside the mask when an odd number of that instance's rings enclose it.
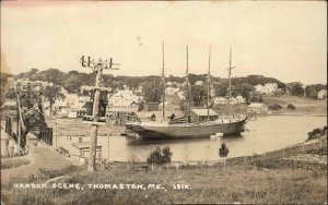
<path fill-rule="evenodd" d="M 20 73 L 17 75 L 11 75 L 1 73 L 1 83 L 5 82 L 7 77 L 12 76 L 16 79 L 28 79 L 31 81 L 44 81 L 44 82 L 51 82 L 54 84 L 60 85 L 66 88 L 69 93 L 78 93 L 80 92 L 80 87 L 82 85 L 92 85 L 94 84 L 95 74 L 93 73 L 80 73 L 78 71 L 69 71 L 68 73 L 61 72 L 58 69 L 48 69 L 45 71 L 38 71 L 37 69 L 32 69 L 28 72 Z M 173 76 L 168 75 L 165 77 L 166 82 L 177 82 L 184 83 L 185 76 Z M 130 88 L 138 88 L 140 85 L 144 83 L 152 83 L 156 86 L 161 83 L 161 76 L 159 75 L 149 75 L 149 76 L 114 76 L 112 74 L 104 74 L 103 75 L 104 85 L 110 86 L 114 89 L 122 88 L 124 85 L 127 85 Z M 197 81 L 207 82 L 207 75 L 201 74 L 189 74 L 189 82 L 194 85 Z M 223 84 L 224 86 L 227 85 L 227 79 L 221 77 L 212 77 L 212 82 L 216 82 Z M 279 88 L 285 88 L 285 84 L 280 82 L 273 77 L 265 77 L 262 75 L 248 75 L 246 77 L 233 77 L 232 84 L 239 85 L 239 84 L 249 84 L 251 86 L 261 84 L 265 85 L 266 83 L 277 83 Z"/>

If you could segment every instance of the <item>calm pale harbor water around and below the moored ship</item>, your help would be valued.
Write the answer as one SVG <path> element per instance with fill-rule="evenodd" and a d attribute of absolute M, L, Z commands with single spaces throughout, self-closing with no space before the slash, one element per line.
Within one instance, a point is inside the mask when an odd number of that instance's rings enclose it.
<path fill-rule="evenodd" d="M 172 160 L 175 161 L 216 160 L 219 159 L 219 147 L 223 142 L 230 149 L 229 157 L 261 154 L 304 142 L 307 133 L 315 128 L 326 125 L 326 117 L 269 116 L 248 121 L 246 124 L 248 131 L 236 136 L 174 141 L 98 136 L 98 145 L 103 146 L 102 157 L 108 159 L 109 155 L 110 161 L 136 159 L 143 161 L 149 153 L 159 145 L 161 147 L 169 146 L 173 152 Z M 78 141 L 78 137 L 58 137 L 58 146 L 72 149 L 71 143 Z M 89 141 L 89 137 L 83 137 L 83 142 Z"/>

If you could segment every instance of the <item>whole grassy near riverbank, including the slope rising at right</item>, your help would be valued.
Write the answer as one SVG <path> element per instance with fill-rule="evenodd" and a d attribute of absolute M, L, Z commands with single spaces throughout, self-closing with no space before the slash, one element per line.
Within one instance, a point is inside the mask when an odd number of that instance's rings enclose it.
<path fill-rule="evenodd" d="M 304 144 L 307 147 L 281 150 L 283 155 L 281 152 L 255 155 L 246 161 L 245 158 L 227 159 L 225 167 L 219 162 L 150 170 L 138 164 L 121 162 L 94 173 L 85 172 L 83 167 L 43 170 L 33 178 L 12 179 L 11 185 L 1 188 L 1 198 L 4 204 L 325 204 L 327 164 L 321 162 L 327 161 L 327 136 L 321 140 L 321 144 L 312 141 Z M 297 166 L 300 158 L 306 158 L 304 166 Z M 57 181 L 57 185 L 59 182 L 79 184 L 83 190 L 50 185 L 13 188 L 13 183 L 43 183 L 62 174 L 68 178 Z M 160 185 L 156 189 L 149 184 Z"/>

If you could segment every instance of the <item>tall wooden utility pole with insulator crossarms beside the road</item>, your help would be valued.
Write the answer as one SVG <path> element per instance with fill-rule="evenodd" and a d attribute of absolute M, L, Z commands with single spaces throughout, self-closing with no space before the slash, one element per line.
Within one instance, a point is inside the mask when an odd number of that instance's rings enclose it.
<path fill-rule="evenodd" d="M 97 62 L 94 61 L 94 59 L 91 60 L 90 57 L 87 57 L 87 60 L 84 59 L 84 56 L 81 58 L 81 64 L 82 67 L 87 67 L 93 70 L 94 73 L 96 73 L 96 82 L 93 87 L 86 86 L 85 89 L 89 91 L 95 91 L 94 94 L 94 100 L 93 100 L 93 109 L 92 109 L 92 122 L 91 123 L 91 142 L 90 142 L 90 157 L 89 157 L 89 165 L 87 165 L 87 171 L 94 172 L 95 171 L 95 158 L 96 158 L 96 146 L 97 146 L 97 131 L 98 125 L 102 125 L 104 123 L 99 122 L 99 96 L 101 91 L 108 91 L 108 88 L 103 87 L 102 85 L 102 79 L 103 79 L 103 70 L 109 69 L 109 70 L 118 70 L 117 68 L 113 68 L 113 65 L 119 65 L 113 63 L 113 59 L 110 58 L 109 61 L 102 61 L 102 59 L 98 59 Z M 87 123 L 87 122 L 85 122 Z"/>

